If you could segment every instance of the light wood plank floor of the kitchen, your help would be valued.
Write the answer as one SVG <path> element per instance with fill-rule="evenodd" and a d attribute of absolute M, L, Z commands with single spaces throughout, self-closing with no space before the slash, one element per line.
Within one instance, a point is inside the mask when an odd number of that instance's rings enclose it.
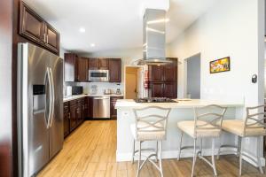
<path fill-rule="evenodd" d="M 50 164 L 46 165 L 38 177 L 131 177 L 136 176 L 137 163 L 115 162 L 116 120 L 85 121 L 72 135 L 66 138 L 64 148 Z M 219 176 L 238 176 L 239 162 L 235 156 L 221 157 L 216 161 Z M 191 176 L 192 158 L 163 160 L 165 177 Z M 213 176 L 212 169 L 199 158 L 196 176 Z M 153 165 L 147 163 L 140 176 L 160 176 Z M 243 176 L 266 176 L 243 160 Z"/>

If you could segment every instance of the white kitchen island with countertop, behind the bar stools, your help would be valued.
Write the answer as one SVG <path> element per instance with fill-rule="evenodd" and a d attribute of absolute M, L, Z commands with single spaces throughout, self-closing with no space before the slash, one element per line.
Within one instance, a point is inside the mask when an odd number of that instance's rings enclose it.
<path fill-rule="evenodd" d="M 162 143 L 162 158 L 177 158 L 179 149 L 180 131 L 176 127 L 178 121 L 194 119 L 193 108 L 203 107 L 208 104 L 219 104 L 228 107 L 224 115 L 224 119 L 241 119 L 244 105 L 242 103 L 226 103 L 220 101 L 209 101 L 199 99 L 180 99 L 175 100 L 176 103 L 136 103 L 134 100 L 118 100 L 115 108 L 117 109 L 117 150 L 116 161 L 130 161 L 132 156 L 133 136 L 130 132 L 130 125 L 135 122 L 133 113 L 134 108 L 144 108 L 146 106 L 160 106 L 164 108 L 171 108 L 168 117 L 168 132 L 167 140 Z M 218 142 L 222 141 L 226 144 L 234 144 L 235 137 L 223 133 L 220 140 L 216 140 L 216 147 Z M 184 135 L 183 145 L 190 146 L 193 143 L 191 137 Z M 143 148 L 154 148 L 155 142 L 144 142 Z M 203 154 L 210 155 L 211 143 L 209 140 L 203 140 Z M 190 151 L 184 150 L 181 158 L 192 157 Z"/>

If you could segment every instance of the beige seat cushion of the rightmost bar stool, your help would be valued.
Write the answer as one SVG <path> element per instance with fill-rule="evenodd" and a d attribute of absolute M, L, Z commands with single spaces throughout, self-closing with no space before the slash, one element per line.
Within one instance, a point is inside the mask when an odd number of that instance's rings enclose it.
<path fill-rule="evenodd" d="M 226 132 L 234 135 L 244 136 L 257 136 L 266 135 L 266 129 L 254 125 L 253 127 L 246 128 L 246 135 L 244 132 L 245 121 L 242 119 L 226 119 L 223 120 L 222 128 Z"/>

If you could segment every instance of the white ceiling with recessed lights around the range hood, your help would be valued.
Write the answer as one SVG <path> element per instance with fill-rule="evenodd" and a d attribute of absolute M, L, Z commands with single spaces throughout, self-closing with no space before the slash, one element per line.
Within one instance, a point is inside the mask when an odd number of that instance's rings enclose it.
<path fill-rule="evenodd" d="M 166 31 L 167 42 L 172 42 L 217 0 L 24 1 L 59 30 L 62 48 L 89 53 L 141 47 L 144 7 L 169 6 Z M 92 43 L 95 47 L 90 46 Z"/>

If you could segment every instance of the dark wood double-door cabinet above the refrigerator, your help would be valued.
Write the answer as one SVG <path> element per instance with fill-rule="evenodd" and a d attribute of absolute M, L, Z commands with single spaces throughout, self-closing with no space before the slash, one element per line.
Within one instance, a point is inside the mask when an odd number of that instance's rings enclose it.
<path fill-rule="evenodd" d="M 59 54 L 59 33 L 23 1 L 20 2 L 20 35 Z"/>

